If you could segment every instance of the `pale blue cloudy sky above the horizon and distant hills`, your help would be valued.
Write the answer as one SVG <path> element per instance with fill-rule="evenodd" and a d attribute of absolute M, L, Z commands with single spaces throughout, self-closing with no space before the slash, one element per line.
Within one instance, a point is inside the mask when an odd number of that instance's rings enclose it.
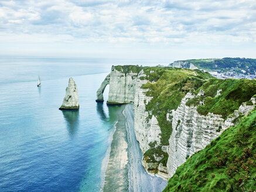
<path fill-rule="evenodd" d="M 0 0 L 0 55 L 256 58 L 256 1 Z"/>

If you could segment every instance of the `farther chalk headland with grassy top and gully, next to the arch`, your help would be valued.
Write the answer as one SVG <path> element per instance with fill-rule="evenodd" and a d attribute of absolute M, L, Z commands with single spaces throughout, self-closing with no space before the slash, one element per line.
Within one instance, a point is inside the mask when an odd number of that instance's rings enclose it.
<path fill-rule="evenodd" d="M 168 108 L 168 105 L 172 109 L 175 106 L 178 107 L 188 91 L 187 88 L 183 91 L 179 91 L 178 88 L 195 83 L 202 84 L 203 81 L 200 80 L 200 78 L 203 78 L 202 74 L 200 71 L 173 70 L 169 67 L 115 66 L 111 68 L 110 92 L 107 103 L 124 104 L 134 102 L 135 135 L 142 153 L 144 153 L 142 164 L 148 173 L 158 174 L 163 179 L 168 179 L 166 163 L 168 159 L 168 139 L 172 128 L 165 117 L 166 108 Z M 193 78 L 187 79 L 190 76 Z M 207 75 L 207 78 L 209 77 L 210 75 Z M 175 81 L 175 83 L 172 81 Z M 105 84 L 103 82 L 101 87 L 104 87 Z M 103 89 L 100 88 L 99 90 L 98 92 L 101 93 Z M 159 95 L 151 96 L 150 94 L 153 91 L 163 92 L 164 94 L 160 97 L 158 97 Z M 173 95 L 175 95 L 175 100 L 171 98 Z M 160 98 L 160 100 L 155 100 L 155 98 Z M 170 98 L 170 100 L 166 100 L 166 98 Z M 165 100 L 165 102 L 162 103 L 162 100 Z M 151 105 L 153 107 L 149 108 L 148 106 Z M 162 105 L 165 107 L 162 107 Z"/>

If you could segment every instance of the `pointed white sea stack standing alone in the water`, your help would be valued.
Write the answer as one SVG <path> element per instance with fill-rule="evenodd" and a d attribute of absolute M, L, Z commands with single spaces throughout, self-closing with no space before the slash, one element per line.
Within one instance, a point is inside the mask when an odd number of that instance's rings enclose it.
<path fill-rule="evenodd" d="M 64 97 L 62 106 L 59 108 L 60 110 L 64 109 L 78 109 L 79 108 L 79 99 L 78 99 L 78 90 L 76 82 L 74 82 L 73 78 L 69 78 L 69 85 L 66 88 L 66 95 Z"/>

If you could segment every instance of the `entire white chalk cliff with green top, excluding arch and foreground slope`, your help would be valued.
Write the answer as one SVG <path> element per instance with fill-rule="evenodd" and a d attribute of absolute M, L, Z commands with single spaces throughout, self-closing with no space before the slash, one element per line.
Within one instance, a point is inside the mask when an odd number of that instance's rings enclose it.
<path fill-rule="evenodd" d="M 218 80 L 181 68 L 115 66 L 108 103 L 134 102 L 142 164 L 148 173 L 168 179 L 188 157 L 254 109 L 255 94 L 255 81 Z"/>

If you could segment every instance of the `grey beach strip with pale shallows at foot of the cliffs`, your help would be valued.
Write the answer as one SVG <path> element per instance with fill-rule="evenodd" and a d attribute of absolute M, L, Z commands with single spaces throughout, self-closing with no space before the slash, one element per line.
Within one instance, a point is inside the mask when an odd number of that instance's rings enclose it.
<path fill-rule="evenodd" d="M 162 191 L 167 181 L 146 173 L 134 132 L 132 104 L 121 105 L 112 138 L 103 191 Z"/>

